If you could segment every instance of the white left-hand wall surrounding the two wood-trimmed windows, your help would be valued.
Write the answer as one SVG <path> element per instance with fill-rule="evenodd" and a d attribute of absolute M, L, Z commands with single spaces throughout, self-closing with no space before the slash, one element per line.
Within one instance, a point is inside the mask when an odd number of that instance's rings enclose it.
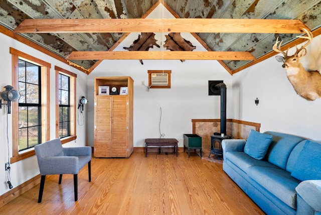
<path fill-rule="evenodd" d="M 56 135 L 56 112 L 55 112 L 55 65 L 64 68 L 68 71 L 77 74 L 77 100 L 80 99 L 81 95 L 87 96 L 87 75 L 69 65 L 62 63 L 42 52 L 35 50 L 29 46 L 26 46 L 10 37 L 5 36 L 0 33 L 0 92 L 4 91 L 4 86 L 10 84 L 12 85 L 12 73 L 11 73 L 11 54 L 9 53 L 9 48 L 13 47 L 19 51 L 26 54 L 44 60 L 51 63 L 50 70 L 50 139 L 54 139 Z M 4 100 L 3 100 L 4 102 Z M 85 107 L 86 108 L 86 107 Z M 12 114 L 8 115 L 8 138 L 9 138 L 9 149 L 7 144 L 7 114 L 6 107 L 0 109 L 0 195 L 9 191 L 9 187 L 6 183 L 7 177 L 5 172 L 5 163 L 8 162 L 8 152 L 9 157 L 12 157 Z M 86 122 L 85 122 L 86 123 Z M 84 146 L 86 144 L 86 124 L 79 126 L 77 124 L 77 139 L 76 143 L 74 141 L 64 144 L 66 146 Z M 8 151 L 9 150 L 9 151 Z M 11 183 L 14 187 L 24 183 L 25 181 L 35 177 L 39 174 L 39 168 L 36 156 L 18 161 L 11 164 Z"/>

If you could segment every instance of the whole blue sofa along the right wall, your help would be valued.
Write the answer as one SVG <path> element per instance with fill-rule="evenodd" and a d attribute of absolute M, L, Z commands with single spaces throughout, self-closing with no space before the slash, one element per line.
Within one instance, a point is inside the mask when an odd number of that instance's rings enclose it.
<path fill-rule="evenodd" d="M 254 133 L 247 141 L 222 141 L 223 170 L 267 214 L 321 215 L 321 142 L 278 132 L 252 138 Z M 265 152 L 257 150 L 260 158 L 248 152 L 269 138 Z"/>

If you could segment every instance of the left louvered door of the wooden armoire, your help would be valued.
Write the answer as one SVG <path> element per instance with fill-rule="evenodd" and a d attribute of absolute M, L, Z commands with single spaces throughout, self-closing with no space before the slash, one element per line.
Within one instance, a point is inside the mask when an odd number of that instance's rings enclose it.
<path fill-rule="evenodd" d="M 111 157 L 111 97 L 97 96 L 95 157 Z"/>

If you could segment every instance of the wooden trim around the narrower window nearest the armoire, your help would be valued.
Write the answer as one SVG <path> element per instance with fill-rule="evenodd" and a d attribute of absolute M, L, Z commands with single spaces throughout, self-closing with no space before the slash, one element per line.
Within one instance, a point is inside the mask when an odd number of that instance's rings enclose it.
<path fill-rule="evenodd" d="M 65 144 L 76 140 L 76 78 L 77 74 L 55 66 L 56 71 L 56 137 L 59 137 L 59 73 L 70 77 L 70 136 L 61 139 L 61 143 Z"/>

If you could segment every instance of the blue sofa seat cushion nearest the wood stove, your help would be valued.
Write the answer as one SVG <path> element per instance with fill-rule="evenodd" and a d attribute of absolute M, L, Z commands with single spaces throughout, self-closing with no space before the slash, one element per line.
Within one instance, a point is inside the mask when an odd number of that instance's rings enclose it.
<path fill-rule="evenodd" d="M 224 159 L 229 160 L 239 167 L 243 172 L 247 173 L 247 169 L 251 166 L 264 166 L 269 168 L 278 168 L 277 166 L 263 160 L 257 160 L 244 152 L 227 151 Z"/>

